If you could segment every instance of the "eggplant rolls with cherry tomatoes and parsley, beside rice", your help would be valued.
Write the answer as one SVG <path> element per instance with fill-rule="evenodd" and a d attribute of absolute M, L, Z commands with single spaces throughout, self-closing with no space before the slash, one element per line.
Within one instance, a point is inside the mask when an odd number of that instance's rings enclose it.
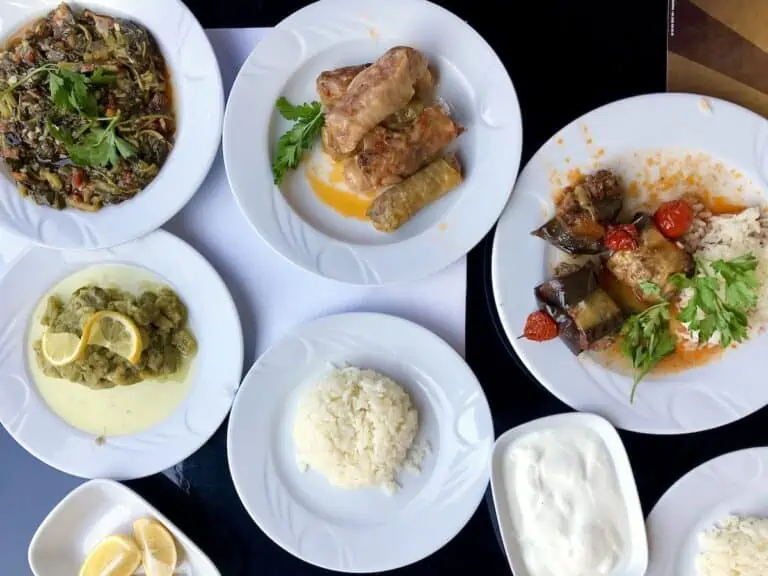
<path fill-rule="evenodd" d="M 704 226 L 694 222 L 699 200 L 677 198 L 629 217 L 623 199 L 621 179 L 609 170 L 562 190 L 555 216 L 533 235 L 565 261 L 534 289 L 539 310 L 522 337 L 543 342 L 559 335 L 574 354 L 617 351 L 633 372 L 634 399 L 640 380 L 667 357 L 677 355 L 677 365 L 687 367 L 687 351 L 695 358 L 701 348 L 746 339 L 759 282 L 752 254 L 706 262 L 690 247 L 686 235 Z"/>

